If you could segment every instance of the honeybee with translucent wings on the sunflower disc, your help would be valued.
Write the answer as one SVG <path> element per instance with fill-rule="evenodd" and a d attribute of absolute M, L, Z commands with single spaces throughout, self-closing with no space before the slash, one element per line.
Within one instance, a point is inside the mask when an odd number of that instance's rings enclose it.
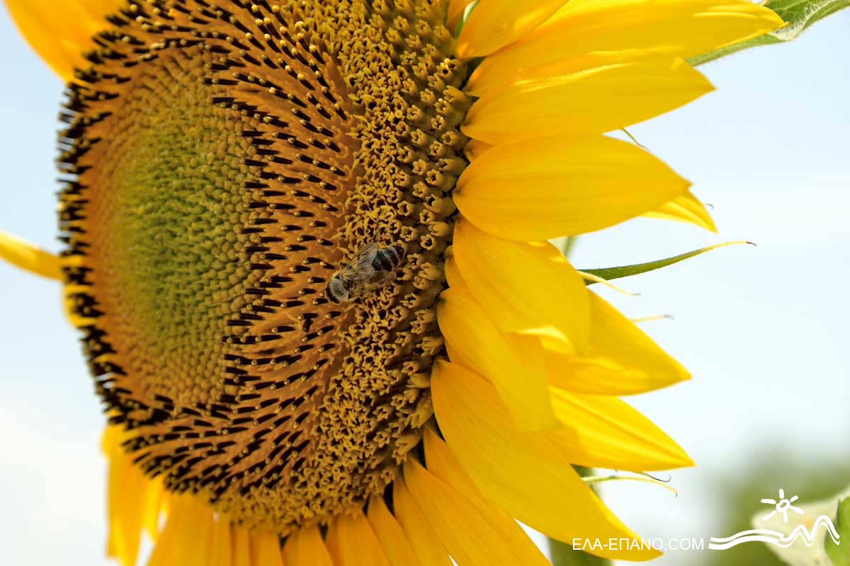
<path fill-rule="evenodd" d="M 380 289 L 393 281 L 404 257 L 405 249 L 401 244 L 388 248 L 378 244 L 365 246 L 327 282 L 327 298 L 337 304 L 347 303 L 361 294 Z"/>

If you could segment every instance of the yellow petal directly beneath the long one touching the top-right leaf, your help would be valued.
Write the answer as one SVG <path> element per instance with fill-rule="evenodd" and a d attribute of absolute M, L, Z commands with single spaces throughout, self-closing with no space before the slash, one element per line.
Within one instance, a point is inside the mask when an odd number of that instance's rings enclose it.
<path fill-rule="evenodd" d="M 648 120 L 710 92 L 711 83 L 683 59 L 649 54 L 578 72 L 545 74 L 484 92 L 463 133 L 485 143 L 556 133 L 604 133 Z"/>

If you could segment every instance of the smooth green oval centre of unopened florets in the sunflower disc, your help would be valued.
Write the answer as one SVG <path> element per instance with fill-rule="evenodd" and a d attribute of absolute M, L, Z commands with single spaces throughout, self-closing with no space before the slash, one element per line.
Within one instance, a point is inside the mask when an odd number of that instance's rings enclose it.
<path fill-rule="evenodd" d="M 243 165 L 250 125 L 210 104 L 203 60 L 194 48 L 144 65 L 111 117 L 89 207 L 124 366 L 181 405 L 223 392 L 227 315 L 256 279 L 241 255 L 256 180 Z"/>

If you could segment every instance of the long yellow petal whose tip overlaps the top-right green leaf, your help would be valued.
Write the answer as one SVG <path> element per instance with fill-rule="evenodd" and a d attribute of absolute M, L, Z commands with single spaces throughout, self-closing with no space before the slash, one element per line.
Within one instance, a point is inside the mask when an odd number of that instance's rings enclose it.
<path fill-rule="evenodd" d="M 484 59 L 467 87 L 484 92 L 577 53 L 649 49 L 688 58 L 781 25 L 748 0 L 571 0 L 522 41 Z"/>

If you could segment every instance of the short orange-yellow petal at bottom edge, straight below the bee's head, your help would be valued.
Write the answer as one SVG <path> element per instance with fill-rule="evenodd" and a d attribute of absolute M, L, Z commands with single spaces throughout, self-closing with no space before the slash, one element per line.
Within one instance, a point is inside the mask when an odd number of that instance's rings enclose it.
<path fill-rule="evenodd" d="M 332 521 L 325 544 L 335 566 L 389 566 L 381 543 L 360 509 Z"/>

